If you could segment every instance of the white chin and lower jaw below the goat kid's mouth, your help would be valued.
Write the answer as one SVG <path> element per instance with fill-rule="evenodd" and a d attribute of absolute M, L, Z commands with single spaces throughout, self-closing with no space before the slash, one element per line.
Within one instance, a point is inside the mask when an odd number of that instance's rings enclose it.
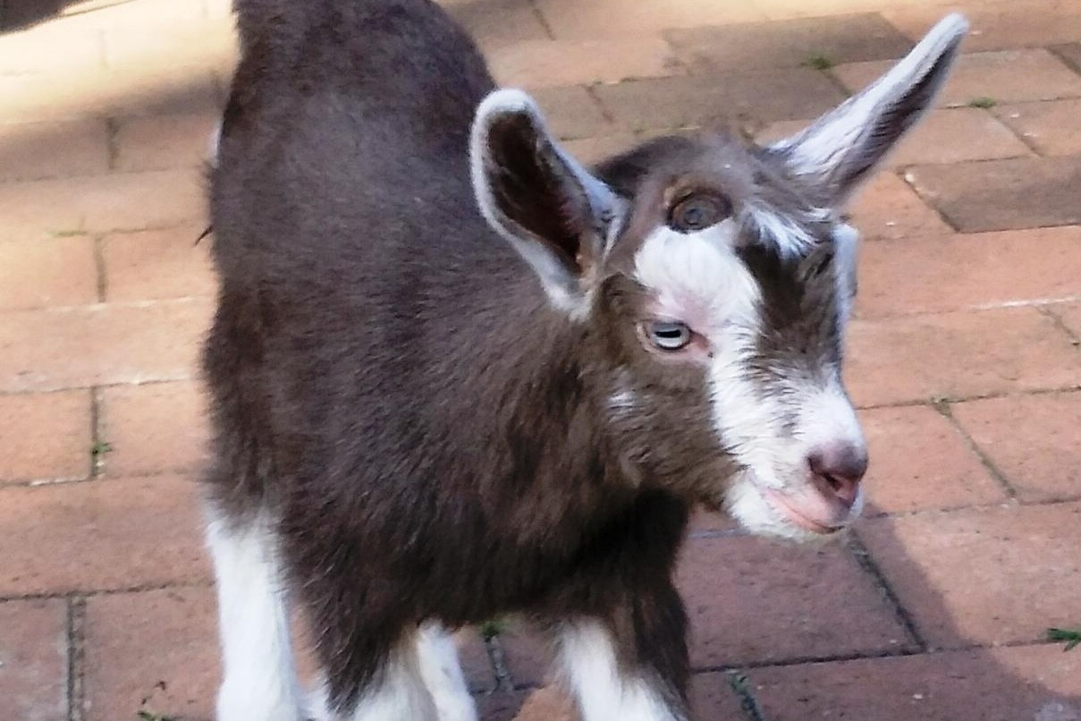
<path fill-rule="evenodd" d="M 744 529 L 760 536 L 799 543 L 836 537 L 846 526 L 825 526 L 786 505 L 783 496 L 756 483 L 749 475 L 733 479 L 724 509 Z"/>

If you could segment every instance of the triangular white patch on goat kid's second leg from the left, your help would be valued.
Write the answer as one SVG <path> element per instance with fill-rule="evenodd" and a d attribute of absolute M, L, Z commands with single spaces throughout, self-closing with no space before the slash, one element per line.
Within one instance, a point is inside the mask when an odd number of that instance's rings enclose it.
<path fill-rule="evenodd" d="M 363 693 L 348 721 L 439 721 L 421 675 L 415 638 L 406 639 Z"/>

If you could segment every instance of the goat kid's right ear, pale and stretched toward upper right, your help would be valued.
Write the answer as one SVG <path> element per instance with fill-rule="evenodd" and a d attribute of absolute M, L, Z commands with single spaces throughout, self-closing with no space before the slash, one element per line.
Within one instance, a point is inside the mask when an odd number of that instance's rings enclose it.
<path fill-rule="evenodd" d="M 819 185 L 832 204 L 843 204 L 931 107 L 967 29 L 959 14 L 943 18 L 893 69 L 770 150 Z"/>

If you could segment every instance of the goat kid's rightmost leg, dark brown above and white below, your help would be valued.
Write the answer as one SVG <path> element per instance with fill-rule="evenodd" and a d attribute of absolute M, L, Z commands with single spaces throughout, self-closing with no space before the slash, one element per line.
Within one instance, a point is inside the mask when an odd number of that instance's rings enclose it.
<path fill-rule="evenodd" d="M 562 620 L 560 663 L 583 721 L 689 721 L 686 614 L 667 579 Z"/>

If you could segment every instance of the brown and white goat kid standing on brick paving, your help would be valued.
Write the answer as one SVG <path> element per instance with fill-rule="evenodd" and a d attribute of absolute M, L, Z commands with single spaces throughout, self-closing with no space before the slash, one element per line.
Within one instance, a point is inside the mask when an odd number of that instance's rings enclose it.
<path fill-rule="evenodd" d="M 788 141 L 590 172 L 426 0 L 237 5 L 204 357 L 218 719 L 475 719 L 446 629 L 504 613 L 550 631 L 586 721 L 689 719 L 689 510 L 795 539 L 859 511 L 841 209 L 964 21 Z"/>

